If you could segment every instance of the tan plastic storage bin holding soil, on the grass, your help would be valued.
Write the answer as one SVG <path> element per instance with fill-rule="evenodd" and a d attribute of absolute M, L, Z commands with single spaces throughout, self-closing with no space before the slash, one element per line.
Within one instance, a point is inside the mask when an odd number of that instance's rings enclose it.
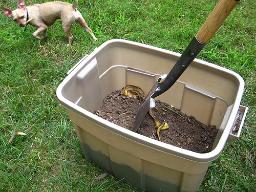
<path fill-rule="evenodd" d="M 113 39 L 106 41 L 70 70 L 57 89 L 87 159 L 142 191 L 197 191 L 211 161 L 225 143 L 239 138 L 247 108 L 240 105 L 240 75 L 195 59 L 179 80 L 157 100 L 219 129 L 212 151 L 199 154 L 126 130 L 91 112 L 102 99 L 127 83 L 148 92 L 168 73 L 180 54 Z M 240 116 L 238 135 L 231 134 Z"/>

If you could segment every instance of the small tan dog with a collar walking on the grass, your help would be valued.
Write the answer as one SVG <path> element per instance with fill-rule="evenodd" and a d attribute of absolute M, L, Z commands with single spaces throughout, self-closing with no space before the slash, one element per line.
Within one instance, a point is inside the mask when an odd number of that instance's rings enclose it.
<path fill-rule="evenodd" d="M 12 17 L 20 27 L 26 27 L 27 24 L 37 27 L 33 36 L 38 39 L 47 37 L 47 28 L 53 25 L 57 19 L 61 19 L 62 28 L 69 37 L 68 46 L 70 46 L 74 38 L 71 34 L 71 25 L 74 22 L 79 23 L 94 40 L 97 40 L 81 13 L 76 9 L 77 1 L 75 0 L 74 5 L 65 2 L 48 2 L 26 7 L 23 0 L 18 0 L 18 9 L 11 11 L 2 7 L 2 10 L 8 17 Z M 44 36 L 39 35 L 41 32 L 44 32 Z"/>

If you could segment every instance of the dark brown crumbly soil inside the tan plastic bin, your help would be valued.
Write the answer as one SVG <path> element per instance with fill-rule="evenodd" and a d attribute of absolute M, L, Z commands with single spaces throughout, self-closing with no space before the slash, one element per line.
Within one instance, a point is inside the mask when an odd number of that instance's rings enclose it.
<path fill-rule="evenodd" d="M 100 108 L 93 113 L 130 130 L 140 103 L 138 98 L 126 97 L 122 91 L 118 90 L 105 97 Z M 211 151 L 218 133 L 215 125 L 205 125 L 193 116 L 187 116 L 179 109 L 158 100 L 156 100 L 156 108 L 164 122 L 169 125 L 169 129 L 160 131 L 161 142 L 197 153 Z M 182 117 L 167 108 L 171 108 Z M 158 140 L 157 127 L 149 113 L 141 123 L 138 133 Z"/>

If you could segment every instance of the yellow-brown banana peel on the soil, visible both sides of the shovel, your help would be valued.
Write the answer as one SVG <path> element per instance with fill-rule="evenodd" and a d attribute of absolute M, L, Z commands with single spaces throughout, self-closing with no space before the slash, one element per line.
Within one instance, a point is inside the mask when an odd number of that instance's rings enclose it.
<path fill-rule="evenodd" d="M 144 95 L 145 95 L 144 91 L 140 87 L 135 86 L 134 84 L 126 84 L 126 86 L 123 88 L 123 94 L 126 97 L 139 97 L 141 101 L 144 99 Z M 157 126 L 158 140 L 161 141 L 159 133 L 161 130 L 167 130 L 169 128 L 169 125 L 163 121 L 162 116 L 156 107 L 150 108 L 148 112 L 150 113 L 151 117 L 154 119 L 154 122 Z M 155 113 L 158 113 L 158 115 L 156 115 Z M 158 119 L 161 118 L 161 120 L 158 120 L 157 118 Z"/>

